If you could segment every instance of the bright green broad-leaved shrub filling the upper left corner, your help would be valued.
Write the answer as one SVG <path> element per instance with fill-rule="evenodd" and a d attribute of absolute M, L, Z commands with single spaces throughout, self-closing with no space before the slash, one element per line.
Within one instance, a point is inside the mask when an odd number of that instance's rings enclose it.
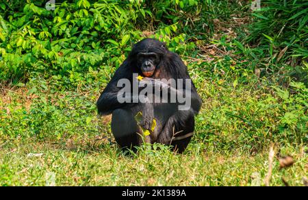
<path fill-rule="evenodd" d="M 74 82 L 89 70 L 119 66 L 153 18 L 144 2 L 64 1 L 54 11 L 40 1 L 1 3 L 0 78 L 18 82 L 41 73 Z M 167 42 L 171 50 L 194 48 L 193 43 L 179 45 L 185 35 L 177 32 L 177 22 L 159 23 L 155 29 L 152 37 Z"/>

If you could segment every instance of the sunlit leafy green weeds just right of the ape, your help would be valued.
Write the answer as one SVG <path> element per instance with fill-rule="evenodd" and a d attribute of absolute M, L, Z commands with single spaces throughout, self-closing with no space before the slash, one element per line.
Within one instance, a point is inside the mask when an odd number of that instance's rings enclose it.
<path fill-rule="evenodd" d="M 246 69 L 248 64 L 227 60 L 190 63 L 190 73 L 205 102 L 196 117 L 198 140 L 210 144 L 207 149 L 211 151 L 242 149 L 251 153 L 270 142 L 307 143 L 305 84 L 277 86 L 266 77 L 258 79 Z"/>

